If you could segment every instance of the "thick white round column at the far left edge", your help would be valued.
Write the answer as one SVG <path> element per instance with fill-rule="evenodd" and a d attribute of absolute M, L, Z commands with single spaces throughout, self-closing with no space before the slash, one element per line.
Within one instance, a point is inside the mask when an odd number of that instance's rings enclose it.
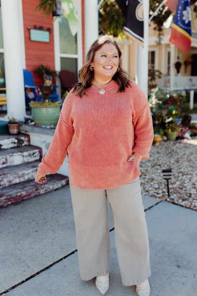
<path fill-rule="evenodd" d="M 1 0 L 7 116 L 24 120 L 25 91 L 19 0 Z"/>

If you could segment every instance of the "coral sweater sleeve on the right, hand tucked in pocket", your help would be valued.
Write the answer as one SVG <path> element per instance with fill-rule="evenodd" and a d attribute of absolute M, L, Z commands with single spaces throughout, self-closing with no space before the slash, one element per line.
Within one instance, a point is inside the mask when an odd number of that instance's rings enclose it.
<path fill-rule="evenodd" d="M 149 152 L 153 143 L 153 121 L 147 98 L 142 90 L 135 86 L 133 99 L 133 127 L 134 127 L 134 154 L 138 164 L 140 159 L 149 158 Z M 134 87 L 134 88 L 135 88 Z"/>

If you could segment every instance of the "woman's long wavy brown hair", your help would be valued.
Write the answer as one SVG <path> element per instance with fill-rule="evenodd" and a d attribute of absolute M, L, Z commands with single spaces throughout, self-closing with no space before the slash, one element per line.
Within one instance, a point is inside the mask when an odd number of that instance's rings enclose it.
<path fill-rule="evenodd" d="M 125 88 L 128 87 L 128 85 L 130 85 L 129 74 L 125 70 L 123 70 L 123 68 L 121 67 L 121 64 L 120 64 L 120 58 L 121 58 L 122 52 L 121 52 L 116 40 L 112 36 L 104 35 L 104 36 L 99 37 L 99 39 L 97 39 L 91 45 L 91 47 L 87 53 L 86 63 L 83 65 L 83 67 L 79 71 L 80 82 L 76 83 L 73 88 L 73 91 L 76 90 L 76 96 L 78 95 L 78 96 L 82 97 L 83 94 L 86 94 L 87 89 L 89 87 L 91 87 L 92 80 L 94 77 L 94 70 L 91 71 L 90 65 L 94 61 L 95 53 L 106 43 L 113 44 L 116 47 L 116 49 L 118 50 L 118 56 L 119 56 L 118 67 L 120 70 L 118 72 L 116 72 L 112 77 L 112 79 L 115 80 L 119 85 L 118 91 L 120 91 L 120 92 L 125 91 Z"/>

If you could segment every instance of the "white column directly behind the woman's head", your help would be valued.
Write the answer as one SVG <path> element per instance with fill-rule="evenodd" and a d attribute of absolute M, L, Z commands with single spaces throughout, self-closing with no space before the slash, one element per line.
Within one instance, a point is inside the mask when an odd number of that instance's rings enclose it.
<path fill-rule="evenodd" d="M 99 37 L 98 0 L 85 0 L 85 54 Z"/>

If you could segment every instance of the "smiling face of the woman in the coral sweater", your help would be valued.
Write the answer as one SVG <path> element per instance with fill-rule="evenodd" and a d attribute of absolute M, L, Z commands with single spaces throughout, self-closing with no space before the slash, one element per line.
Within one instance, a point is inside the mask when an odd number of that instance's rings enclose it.
<path fill-rule="evenodd" d="M 91 66 L 94 67 L 94 79 L 112 79 L 118 69 L 118 65 L 118 50 L 113 44 L 105 43 L 96 51 L 94 61 L 91 63 Z"/>

